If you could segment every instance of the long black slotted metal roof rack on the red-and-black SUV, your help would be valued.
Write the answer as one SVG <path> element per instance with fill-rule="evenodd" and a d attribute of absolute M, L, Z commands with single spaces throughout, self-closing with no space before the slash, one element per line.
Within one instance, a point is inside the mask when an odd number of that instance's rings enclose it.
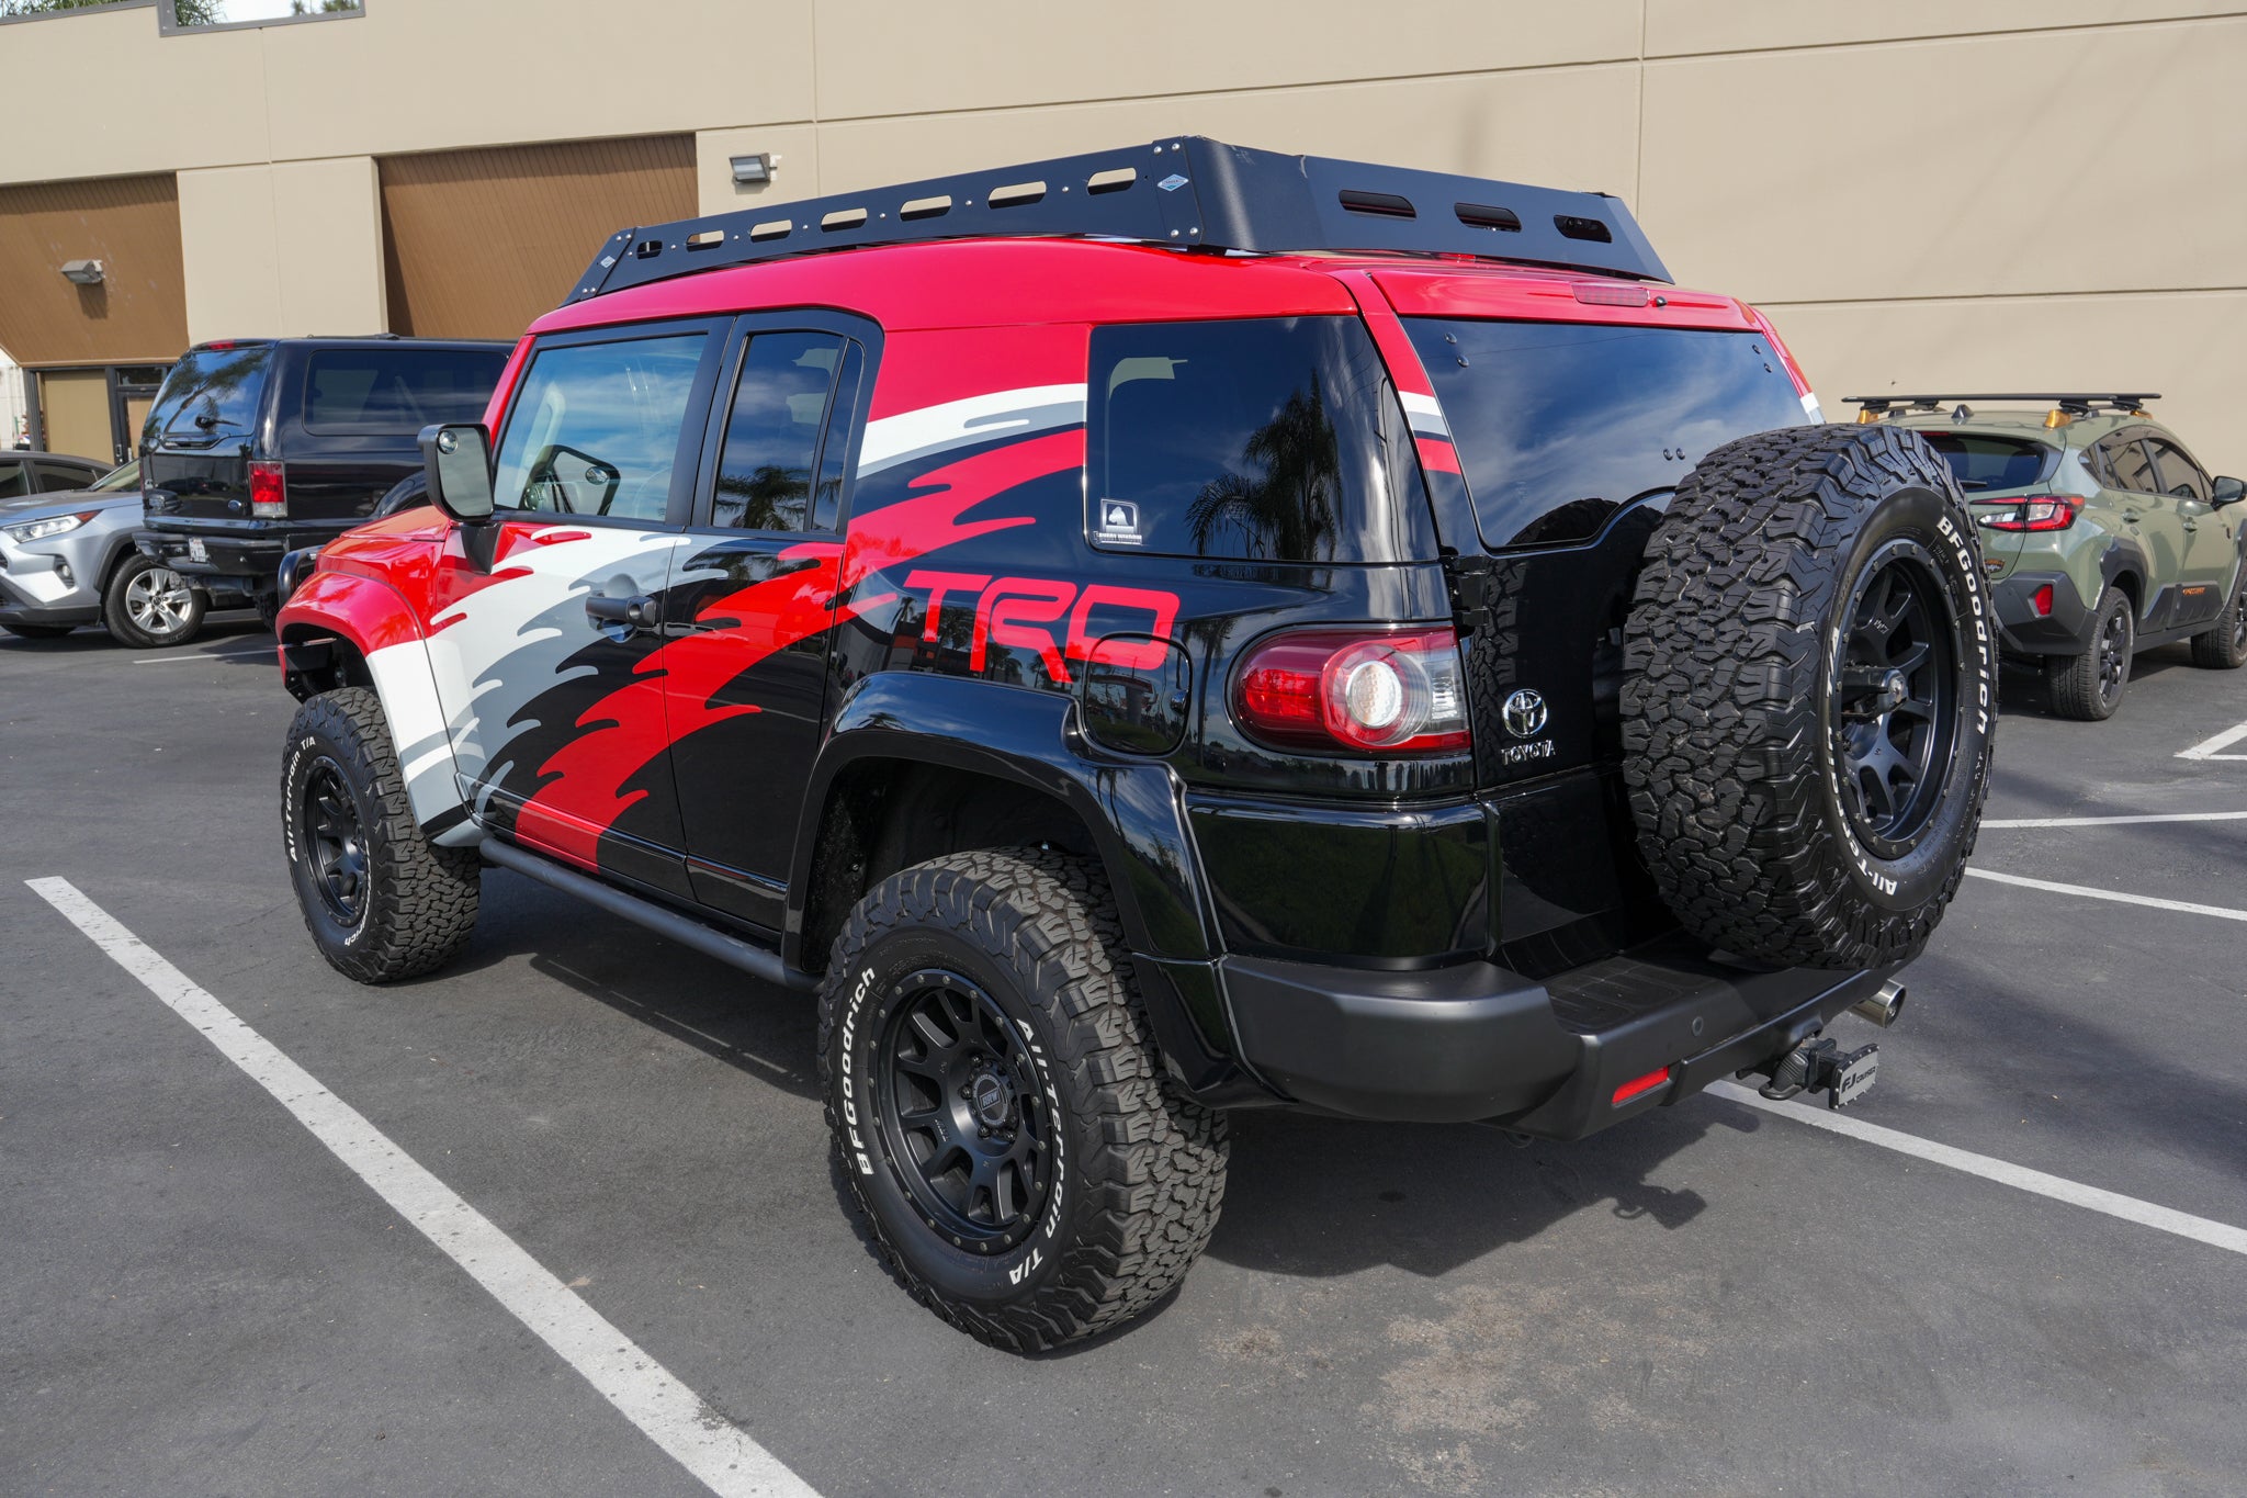
<path fill-rule="evenodd" d="M 717 265 L 968 236 L 1402 249 L 1670 281 L 1620 198 L 1227 146 L 1202 135 L 622 229 L 568 301 Z"/>

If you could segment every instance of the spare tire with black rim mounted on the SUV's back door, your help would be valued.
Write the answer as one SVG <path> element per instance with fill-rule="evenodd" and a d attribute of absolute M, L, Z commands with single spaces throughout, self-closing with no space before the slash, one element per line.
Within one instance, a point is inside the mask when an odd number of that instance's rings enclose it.
<path fill-rule="evenodd" d="M 1782 966 L 1917 954 L 1995 716 L 1982 550 L 1921 436 L 1766 431 L 1679 485 L 1625 627 L 1622 770 L 1685 930 Z"/>

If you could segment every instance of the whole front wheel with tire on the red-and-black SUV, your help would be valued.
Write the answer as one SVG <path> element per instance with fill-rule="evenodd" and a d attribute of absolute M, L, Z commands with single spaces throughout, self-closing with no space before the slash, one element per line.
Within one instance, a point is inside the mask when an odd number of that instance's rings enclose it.
<path fill-rule="evenodd" d="M 461 954 L 476 925 L 481 858 L 431 844 L 366 687 L 297 710 L 281 759 L 281 838 L 312 943 L 337 972 L 389 984 Z"/>

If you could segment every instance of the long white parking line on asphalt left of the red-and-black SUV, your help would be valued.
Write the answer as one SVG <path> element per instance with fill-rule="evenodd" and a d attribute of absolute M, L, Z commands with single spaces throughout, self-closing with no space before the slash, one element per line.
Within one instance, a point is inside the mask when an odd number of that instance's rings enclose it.
<path fill-rule="evenodd" d="M 319 1085 L 310 1071 L 240 1022 L 231 1008 L 198 988 L 110 912 L 65 878 L 25 880 L 110 959 L 202 1031 L 218 1051 L 249 1074 L 297 1123 L 312 1130 L 377 1197 L 483 1285 L 539 1341 L 584 1374 L 625 1419 L 663 1446 L 690 1473 L 726 1498 L 818 1498 L 780 1458 L 753 1442 L 692 1388 L 647 1357 L 629 1336 L 577 1298 L 512 1237 L 463 1202 L 355 1107 Z"/>

